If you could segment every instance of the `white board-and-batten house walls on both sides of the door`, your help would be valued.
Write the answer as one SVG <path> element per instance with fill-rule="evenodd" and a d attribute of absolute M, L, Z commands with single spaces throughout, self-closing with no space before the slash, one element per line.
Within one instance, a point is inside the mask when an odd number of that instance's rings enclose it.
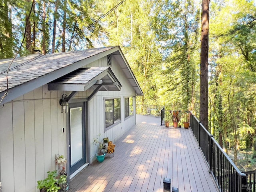
<path fill-rule="evenodd" d="M 107 66 L 107 57 L 85 67 Z M 124 98 L 134 96 L 116 60 L 112 58 L 112 71 L 122 84 L 121 91 L 100 91 L 88 102 L 90 162 L 96 160 L 97 148 L 93 138 L 108 137 L 113 143 L 136 124 L 134 115 L 124 118 Z M 78 92 L 75 98 L 86 98 L 92 89 Z M 61 113 L 59 100 L 71 92 L 48 91 L 47 84 L 4 104 L 0 108 L 0 182 L 3 192 L 35 192 L 38 180 L 56 169 L 55 155 L 67 156 L 67 114 Z M 104 98 L 121 98 L 121 121 L 104 130 Z M 62 132 L 62 128 L 65 132 Z M 68 166 L 68 164 L 67 164 Z M 37 190 L 38 191 L 38 190 Z"/>

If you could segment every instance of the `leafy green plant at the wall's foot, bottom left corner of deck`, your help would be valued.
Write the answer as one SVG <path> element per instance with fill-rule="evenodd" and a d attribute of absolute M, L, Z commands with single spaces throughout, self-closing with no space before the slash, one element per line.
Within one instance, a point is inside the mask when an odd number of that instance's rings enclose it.
<path fill-rule="evenodd" d="M 44 180 L 37 181 L 37 188 L 40 192 L 58 192 L 60 187 L 58 186 L 57 170 L 48 171 L 48 177 Z"/>

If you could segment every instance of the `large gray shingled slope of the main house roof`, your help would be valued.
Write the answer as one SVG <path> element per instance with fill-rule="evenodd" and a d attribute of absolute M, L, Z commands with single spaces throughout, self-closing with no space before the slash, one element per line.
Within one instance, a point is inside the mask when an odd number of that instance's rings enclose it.
<path fill-rule="evenodd" d="M 16 58 L 8 72 L 8 87 L 10 89 L 26 83 L 114 47 L 46 54 L 44 56 L 34 54 L 24 58 Z M 6 71 L 11 61 L 12 59 L 0 60 L 0 92 L 6 90 Z"/>

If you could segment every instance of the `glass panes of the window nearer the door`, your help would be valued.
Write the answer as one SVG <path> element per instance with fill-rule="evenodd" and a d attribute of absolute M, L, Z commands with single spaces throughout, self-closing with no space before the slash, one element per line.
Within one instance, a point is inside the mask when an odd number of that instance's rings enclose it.
<path fill-rule="evenodd" d="M 120 103 L 120 98 L 105 100 L 106 128 L 121 120 Z"/>

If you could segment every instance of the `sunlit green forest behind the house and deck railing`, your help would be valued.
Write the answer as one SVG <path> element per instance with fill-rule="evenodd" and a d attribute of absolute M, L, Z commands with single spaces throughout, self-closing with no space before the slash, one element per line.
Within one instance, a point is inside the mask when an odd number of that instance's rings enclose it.
<path fill-rule="evenodd" d="M 0 59 L 14 57 L 23 37 L 18 56 L 119 45 L 144 92 L 137 104 L 198 116 L 200 29 L 200 0 L 0 0 Z M 210 1 L 208 99 L 210 132 L 241 170 L 254 169 L 252 0 Z"/>

